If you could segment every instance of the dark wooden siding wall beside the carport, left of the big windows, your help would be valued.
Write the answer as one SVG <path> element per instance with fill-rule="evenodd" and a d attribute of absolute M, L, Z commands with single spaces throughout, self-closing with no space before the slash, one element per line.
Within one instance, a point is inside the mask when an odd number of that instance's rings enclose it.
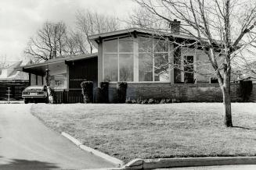
<path fill-rule="evenodd" d="M 81 89 L 82 81 L 93 81 L 94 87 L 98 83 L 98 61 L 97 58 L 88 58 L 78 62 L 69 62 L 70 89 Z"/>

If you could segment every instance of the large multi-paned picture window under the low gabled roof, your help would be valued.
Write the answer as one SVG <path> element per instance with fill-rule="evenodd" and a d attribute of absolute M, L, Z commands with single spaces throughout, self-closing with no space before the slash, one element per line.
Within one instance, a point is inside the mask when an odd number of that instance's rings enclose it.
<path fill-rule="evenodd" d="M 118 37 L 103 41 L 103 76 L 110 81 L 170 81 L 168 40 Z"/>

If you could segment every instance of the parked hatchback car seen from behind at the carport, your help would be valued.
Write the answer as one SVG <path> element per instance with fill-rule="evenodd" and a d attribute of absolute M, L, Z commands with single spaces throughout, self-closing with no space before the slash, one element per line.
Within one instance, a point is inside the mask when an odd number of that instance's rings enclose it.
<path fill-rule="evenodd" d="M 47 87 L 46 86 L 30 86 L 23 90 L 22 97 L 24 103 L 27 104 L 29 102 L 45 102 L 47 103 Z"/>

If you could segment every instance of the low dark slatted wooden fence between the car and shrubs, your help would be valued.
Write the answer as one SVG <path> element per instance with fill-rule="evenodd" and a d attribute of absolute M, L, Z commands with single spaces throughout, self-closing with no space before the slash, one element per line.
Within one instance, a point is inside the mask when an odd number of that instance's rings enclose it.
<path fill-rule="evenodd" d="M 69 91 L 53 91 L 54 103 L 83 103 L 83 96 L 81 90 L 69 90 Z"/>

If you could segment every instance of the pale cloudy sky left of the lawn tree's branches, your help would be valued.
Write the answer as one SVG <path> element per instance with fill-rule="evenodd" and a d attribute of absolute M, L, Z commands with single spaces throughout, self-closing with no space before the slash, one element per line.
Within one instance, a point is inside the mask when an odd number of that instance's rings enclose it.
<path fill-rule="evenodd" d="M 132 0 L 0 0 L 0 60 L 21 60 L 29 37 L 33 36 L 46 20 L 63 20 L 74 26 L 78 9 L 128 15 L 135 8 Z"/>

